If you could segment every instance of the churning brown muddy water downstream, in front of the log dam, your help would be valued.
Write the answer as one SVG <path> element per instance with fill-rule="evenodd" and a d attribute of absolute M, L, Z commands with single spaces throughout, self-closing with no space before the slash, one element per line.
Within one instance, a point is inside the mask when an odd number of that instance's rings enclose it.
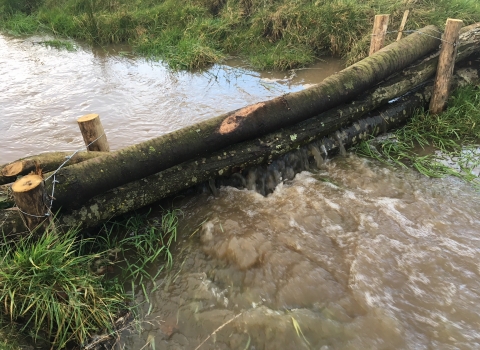
<path fill-rule="evenodd" d="M 177 204 L 175 267 L 148 302 L 137 293 L 148 322 L 126 349 L 480 348 L 468 185 L 350 155 L 266 197 L 222 187 Z"/>

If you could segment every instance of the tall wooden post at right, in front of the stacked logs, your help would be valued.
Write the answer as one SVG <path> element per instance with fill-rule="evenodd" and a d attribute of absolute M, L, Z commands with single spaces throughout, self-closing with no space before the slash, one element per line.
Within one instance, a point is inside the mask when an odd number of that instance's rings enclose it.
<path fill-rule="evenodd" d="M 447 25 L 442 38 L 442 48 L 438 58 L 437 75 L 433 85 L 432 98 L 430 99 L 430 113 L 432 114 L 442 112 L 447 103 L 453 69 L 455 68 L 458 37 L 462 26 L 463 22 L 459 19 L 447 19 Z"/>

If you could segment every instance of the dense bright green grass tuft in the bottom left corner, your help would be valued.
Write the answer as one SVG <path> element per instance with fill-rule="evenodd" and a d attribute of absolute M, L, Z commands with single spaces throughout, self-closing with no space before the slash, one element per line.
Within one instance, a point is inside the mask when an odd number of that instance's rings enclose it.
<path fill-rule="evenodd" d="M 83 343 L 94 331 L 112 327 L 124 298 L 105 289 L 90 271 L 98 255 L 80 255 L 77 232 L 45 233 L 38 241 L 22 238 L 0 249 L 0 304 L 11 322 L 46 335 L 58 348 Z"/>

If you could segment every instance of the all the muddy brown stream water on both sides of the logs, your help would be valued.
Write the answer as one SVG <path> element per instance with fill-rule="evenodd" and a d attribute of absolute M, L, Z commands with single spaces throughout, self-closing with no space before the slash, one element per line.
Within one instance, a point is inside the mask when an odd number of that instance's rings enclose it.
<path fill-rule="evenodd" d="M 339 68 L 171 73 L 33 41 L 0 36 L 0 163 L 80 147 L 82 114 L 101 114 L 115 149 Z M 312 153 L 316 162 L 298 151 L 300 161 L 286 156 L 282 169 L 248 172 L 247 189 L 175 200 L 184 217 L 174 267 L 136 290 L 145 321 L 119 348 L 480 348 L 480 194 L 354 155 Z M 263 196 L 254 190 L 265 171 L 286 181 L 268 191 L 263 181 Z"/>

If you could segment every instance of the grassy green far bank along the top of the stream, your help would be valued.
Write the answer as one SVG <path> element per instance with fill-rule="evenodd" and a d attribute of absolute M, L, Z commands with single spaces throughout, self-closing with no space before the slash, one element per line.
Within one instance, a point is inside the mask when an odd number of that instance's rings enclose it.
<path fill-rule="evenodd" d="M 480 21 L 477 0 L 0 0 L 0 28 L 101 45 L 128 42 L 177 69 L 229 55 L 260 69 L 291 69 L 332 54 L 358 61 L 374 15 L 389 13 L 395 30 L 407 8 L 407 29 L 443 27 L 447 17 Z"/>

